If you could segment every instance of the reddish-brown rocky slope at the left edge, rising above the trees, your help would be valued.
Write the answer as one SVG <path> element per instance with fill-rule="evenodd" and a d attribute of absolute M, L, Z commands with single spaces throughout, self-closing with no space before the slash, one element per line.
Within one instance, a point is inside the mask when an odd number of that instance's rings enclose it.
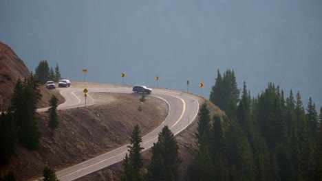
<path fill-rule="evenodd" d="M 8 45 L 0 42 L 0 111 L 8 108 L 18 78 L 29 75 L 23 60 Z"/>

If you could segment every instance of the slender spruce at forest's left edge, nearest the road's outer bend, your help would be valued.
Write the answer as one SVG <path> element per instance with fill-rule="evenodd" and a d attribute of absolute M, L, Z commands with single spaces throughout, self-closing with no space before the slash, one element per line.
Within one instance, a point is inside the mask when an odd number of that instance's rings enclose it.
<path fill-rule="evenodd" d="M 201 145 L 210 145 L 210 136 L 211 136 L 211 117 L 210 112 L 207 108 L 206 102 L 202 104 L 198 112 L 198 127 L 197 127 L 197 139 L 198 146 Z"/>

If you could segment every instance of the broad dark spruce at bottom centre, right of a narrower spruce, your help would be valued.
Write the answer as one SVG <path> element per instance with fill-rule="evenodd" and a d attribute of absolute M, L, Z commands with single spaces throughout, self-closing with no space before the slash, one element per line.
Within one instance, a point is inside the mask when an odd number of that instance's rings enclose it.
<path fill-rule="evenodd" d="M 153 144 L 147 180 L 178 180 L 180 162 L 178 143 L 166 125 Z"/>

